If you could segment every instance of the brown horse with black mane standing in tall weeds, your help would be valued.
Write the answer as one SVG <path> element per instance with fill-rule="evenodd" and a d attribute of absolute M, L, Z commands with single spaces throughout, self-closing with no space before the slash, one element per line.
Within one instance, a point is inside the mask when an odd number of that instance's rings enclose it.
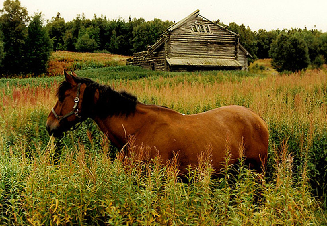
<path fill-rule="evenodd" d="M 212 166 L 218 172 L 226 156 L 228 137 L 232 162 L 240 157 L 243 141 L 246 163 L 261 171 L 267 160 L 268 129 L 262 118 L 241 106 L 225 106 L 204 113 L 184 115 L 174 110 L 147 105 L 107 85 L 64 72 L 58 101 L 50 112 L 46 127 L 59 136 L 77 123 L 92 118 L 118 148 L 126 144 L 126 135 L 135 135 L 136 144 L 151 147 L 150 157 L 159 150 L 164 162 L 179 151 L 181 172 L 197 165 L 197 155 L 212 146 Z"/>

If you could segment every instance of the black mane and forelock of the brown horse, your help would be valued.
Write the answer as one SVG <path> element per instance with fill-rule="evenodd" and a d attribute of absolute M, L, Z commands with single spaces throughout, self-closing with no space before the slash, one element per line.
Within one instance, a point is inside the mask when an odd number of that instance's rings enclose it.
<path fill-rule="evenodd" d="M 85 83 L 86 88 L 83 94 L 81 114 L 84 117 L 92 117 L 97 115 L 101 118 L 125 114 L 133 114 L 137 98 L 125 91 L 117 92 L 112 90 L 109 85 L 101 85 L 91 79 L 74 77 L 76 83 Z M 57 97 L 64 98 L 64 93 L 70 89 L 70 83 L 63 81 L 57 89 Z M 94 103 L 95 91 L 99 90 L 99 99 Z"/>

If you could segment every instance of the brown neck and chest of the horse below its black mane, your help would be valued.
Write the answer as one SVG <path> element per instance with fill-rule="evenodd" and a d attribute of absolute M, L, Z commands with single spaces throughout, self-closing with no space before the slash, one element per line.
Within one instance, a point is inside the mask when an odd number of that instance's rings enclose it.
<path fill-rule="evenodd" d="M 112 143 L 117 147 L 122 147 L 126 144 L 129 134 L 137 133 L 144 126 L 145 120 L 151 120 L 151 114 L 149 113 L 144 104 L 138 103 L 135 113 L 128 116 L 125 114 L 108 116 L 106 118 L 95 116 L 93 119 Z"/>

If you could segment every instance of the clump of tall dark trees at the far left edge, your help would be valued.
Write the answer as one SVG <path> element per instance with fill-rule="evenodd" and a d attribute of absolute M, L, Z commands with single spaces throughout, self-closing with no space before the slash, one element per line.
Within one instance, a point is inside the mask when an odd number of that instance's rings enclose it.
<path fill-rule="evenodd" d="M 52 42 L 41 13 L 29 18 L 18 0 L 6 0 L 0 15 L 0 74 L 45 72 Z"/>

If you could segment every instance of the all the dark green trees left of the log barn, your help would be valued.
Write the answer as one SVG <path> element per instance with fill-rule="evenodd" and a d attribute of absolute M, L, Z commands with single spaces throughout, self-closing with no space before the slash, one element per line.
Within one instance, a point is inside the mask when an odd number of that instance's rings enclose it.
<path fill-rule="evenodd" d="M 171 24 L 96 15 L 86 19 L 83 14 L 65 22 L 60 13 L 45 23 L 41 13 L 29 17 L 19 0 L 6 0 L 0 10 L 0 75 L 46 73 L 52 51 L 132 55 L 154 44 Z"/>

